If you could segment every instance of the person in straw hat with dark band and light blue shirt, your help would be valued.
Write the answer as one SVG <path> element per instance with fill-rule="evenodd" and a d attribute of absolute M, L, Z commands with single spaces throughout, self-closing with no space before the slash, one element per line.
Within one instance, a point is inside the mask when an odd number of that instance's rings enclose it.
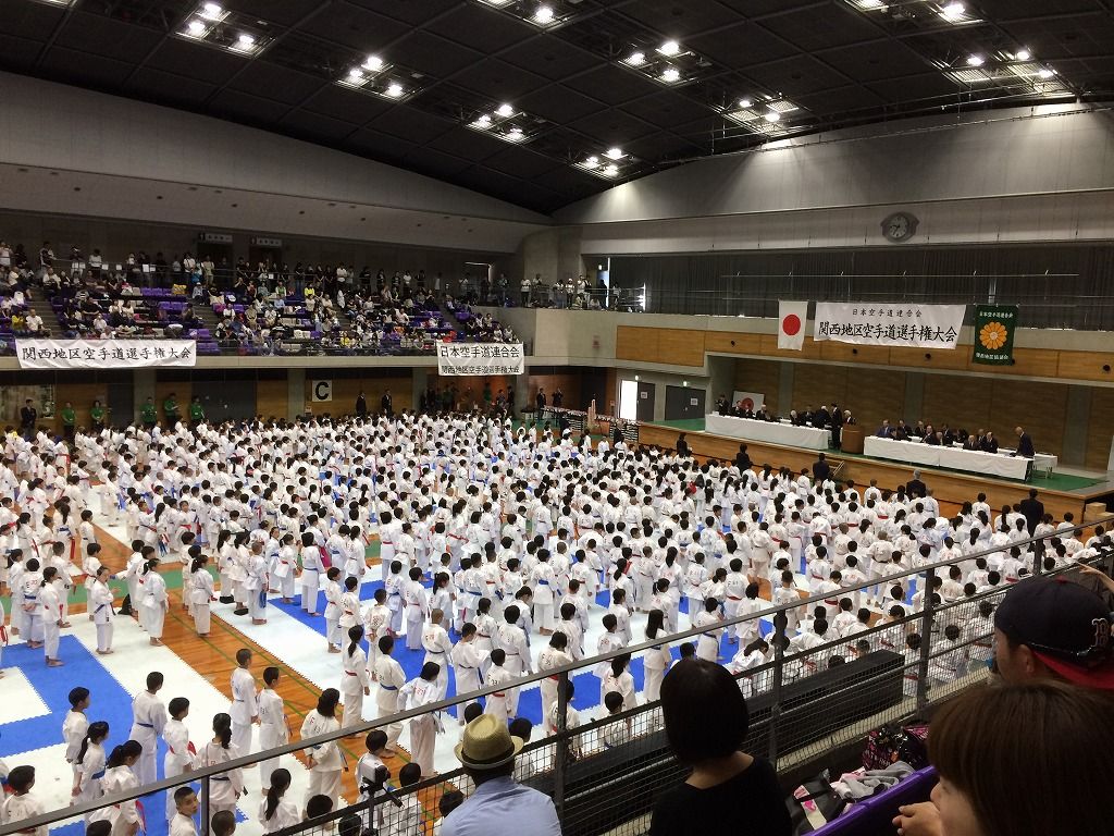
<path fill-rule="evenodd" d="M 465 727 L 456 752 L 476 790 L 441 822 L 441 836 L 560 836 L 549 797 L 512 777 L 521 749 L 522 739 L 494 715 Z"/>

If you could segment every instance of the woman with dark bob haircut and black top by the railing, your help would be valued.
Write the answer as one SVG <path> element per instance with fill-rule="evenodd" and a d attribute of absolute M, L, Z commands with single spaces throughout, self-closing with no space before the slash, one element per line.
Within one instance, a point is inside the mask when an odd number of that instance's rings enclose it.
<path fill-rule="evenodd" d="M 662 716 L 674 757 L 692 774 L 658 798 L 651 836 L 789 836 L 778 775 L 740 751 L 746 700 L 725 668 L 683 659 L 662 680 Z"/>

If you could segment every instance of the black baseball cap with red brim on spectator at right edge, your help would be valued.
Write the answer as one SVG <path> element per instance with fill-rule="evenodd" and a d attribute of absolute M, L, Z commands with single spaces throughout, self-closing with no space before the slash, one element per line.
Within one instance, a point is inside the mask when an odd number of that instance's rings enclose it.
<path fill-rule="evenodd" d="M 1051 671 L 1078 686 L 1114 690 L 1111 611 L 1064 577 L 1035 577 L 1006 593 L 994 625 L 1025 644 Z"/>

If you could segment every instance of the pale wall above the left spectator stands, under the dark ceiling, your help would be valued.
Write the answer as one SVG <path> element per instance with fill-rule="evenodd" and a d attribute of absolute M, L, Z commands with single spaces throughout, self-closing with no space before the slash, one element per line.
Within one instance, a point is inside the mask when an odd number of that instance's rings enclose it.
<path fill-rule="evenodd" d="M 215 118 L 2 72 L 0 90 L 8 208 L 498 252 L 550 225 L 477 192 Z"/>

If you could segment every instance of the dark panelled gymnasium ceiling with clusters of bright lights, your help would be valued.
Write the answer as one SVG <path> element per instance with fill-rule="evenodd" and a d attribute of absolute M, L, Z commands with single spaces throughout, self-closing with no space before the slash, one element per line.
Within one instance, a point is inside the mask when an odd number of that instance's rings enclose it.
<path fill-rule="evenodd" d="M 2 0 L 0 10 L 6 69 L 545 213 L 771 139 L 1114 97 L 1114 0 Z"/>

